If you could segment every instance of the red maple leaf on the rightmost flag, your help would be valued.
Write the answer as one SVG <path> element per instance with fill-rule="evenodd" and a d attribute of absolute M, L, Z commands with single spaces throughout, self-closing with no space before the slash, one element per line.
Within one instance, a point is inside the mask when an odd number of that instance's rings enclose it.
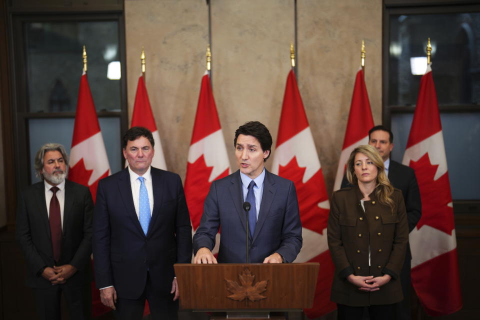
<path fill-rule="evenodd" d="M 415 170 L 421 197 L 421 218 L 416 224 L 420 229 L 427 224 L 451 235 L 454 229 L 453 208 L 451 207 L 448 172 L 434 179 L 438 164 L 431 164 L 428 152 L 417 161 L 410 160 L 409 166 Z"/>

